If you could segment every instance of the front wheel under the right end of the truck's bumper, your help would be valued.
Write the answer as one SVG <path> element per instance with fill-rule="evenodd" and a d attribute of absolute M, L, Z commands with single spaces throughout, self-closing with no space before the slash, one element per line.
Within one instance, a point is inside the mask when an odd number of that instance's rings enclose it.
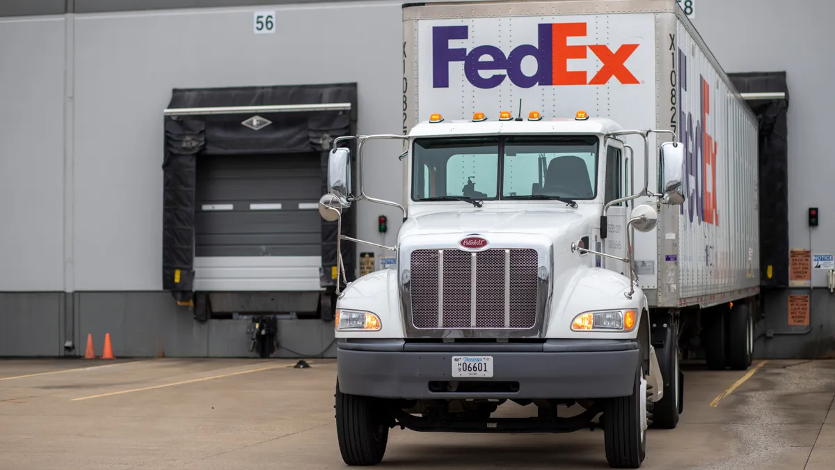
<path fill-rule="evenodd" d="M 632 395 L 605 403 L 606 460 L 612 468 L 639 468 L 646 457 L 646 420 L 650 414 L 644 367 L 635 370 Z M 642 412 L 643 411 L 643 412 Z M 641 419 L 643 418 L 643 419 Z"/>

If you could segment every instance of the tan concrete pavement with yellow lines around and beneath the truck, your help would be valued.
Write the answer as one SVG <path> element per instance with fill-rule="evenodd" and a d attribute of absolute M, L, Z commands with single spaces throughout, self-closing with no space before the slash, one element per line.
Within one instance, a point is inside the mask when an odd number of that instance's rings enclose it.
<path fill-rule="evenodd" d="M 0 360 L 0 468 L 347 468 L 333 419 L 336 363 L 309 363 L 295 369 L 295 360 Z M 684 414 L 675 430 L 650 430 L 642 468 L 835 467 L 835 361 L 769 360 L 747 374 L 683 369 Z M 500 411 L 535 412 L 516 405 Z M 608 465 L 600 430 L 486 435 L 398 428 L 379 467 Z"/>

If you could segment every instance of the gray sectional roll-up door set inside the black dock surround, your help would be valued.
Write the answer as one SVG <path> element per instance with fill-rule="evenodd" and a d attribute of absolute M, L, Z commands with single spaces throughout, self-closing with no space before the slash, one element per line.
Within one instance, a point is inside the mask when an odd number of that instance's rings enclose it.
<path fill-rule="evenodd" d="M 319 290 L 318 153 L 198 156 L 195 289 Z"/>

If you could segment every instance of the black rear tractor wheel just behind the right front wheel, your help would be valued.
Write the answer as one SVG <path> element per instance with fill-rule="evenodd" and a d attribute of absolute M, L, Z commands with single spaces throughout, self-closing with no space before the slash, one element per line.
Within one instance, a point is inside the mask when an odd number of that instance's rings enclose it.
<path fill-rule="evenodd" d="M 675 429 L 681 412 L 681 369 L 675 325 L 665 330 L 664 347 L 655 348 L 658 367 L 664 380 L 664 397 L 652 406 L 652 425 L 658 429 Z"/>

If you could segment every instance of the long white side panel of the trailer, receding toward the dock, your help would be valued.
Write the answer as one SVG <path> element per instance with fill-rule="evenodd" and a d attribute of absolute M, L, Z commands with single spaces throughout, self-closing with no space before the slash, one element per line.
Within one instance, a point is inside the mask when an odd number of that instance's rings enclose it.
<path fill-rule="evenodd" d="M 718 304 L 759 287 L 757 122 L 689 20 L 676 17 L 670 46 L 686 202 L 676 259 L 659 253 L 677 263 L 677 285 L 660 279 L 660 291 L 677 291 L 679 305 Z"/>

